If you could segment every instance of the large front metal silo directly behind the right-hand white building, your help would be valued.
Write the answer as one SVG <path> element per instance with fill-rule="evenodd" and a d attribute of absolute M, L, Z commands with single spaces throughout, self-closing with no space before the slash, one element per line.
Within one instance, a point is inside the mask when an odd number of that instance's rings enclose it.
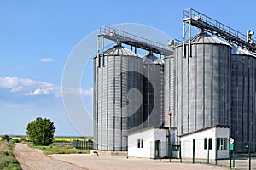
<path fill-rule="evenodd" d="M 178 134 L 230 125 L 231 47 L 204 32 L 190 45 L 174 48 Z"/>

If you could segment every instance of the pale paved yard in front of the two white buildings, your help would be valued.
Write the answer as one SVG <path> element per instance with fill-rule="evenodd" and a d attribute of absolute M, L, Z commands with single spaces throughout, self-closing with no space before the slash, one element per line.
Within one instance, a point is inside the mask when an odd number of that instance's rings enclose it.
<path fill-rule="evenodd" d="M 215 167 L 201 164 L 169 162 L 168 160 L 159 161 L 144 158 L 126 158 L 126 156 L 90 156 L 88 154 L 63 154 L 50 155 L 61 161 L 72 162 L 81 167 L 90 170 L 166 170 L 166 169 L 182 169 L 182 170 L 223 170 L 224 167 Z"/>

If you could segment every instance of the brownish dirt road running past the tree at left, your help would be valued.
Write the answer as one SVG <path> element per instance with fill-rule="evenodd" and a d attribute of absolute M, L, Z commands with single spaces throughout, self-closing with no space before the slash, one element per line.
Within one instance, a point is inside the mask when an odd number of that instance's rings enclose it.
<path fill-rule="evenodd" d="M 52 157 L 45 156 L 41 150 L 32 149 L 27 144 L 15 144 L 14 154 L 20 162 L 23 170 L 84 170 L 86 168 L 67 163 L 65 161 L 55 160 Z"/>

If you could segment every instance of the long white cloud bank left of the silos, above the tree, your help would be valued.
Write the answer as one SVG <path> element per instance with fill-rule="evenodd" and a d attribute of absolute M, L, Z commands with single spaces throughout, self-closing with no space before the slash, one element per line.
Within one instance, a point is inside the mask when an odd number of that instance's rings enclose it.
<path fill-rule="evenodd" d="M 61 97 L 61 90 L 64 94 L 81 94 L 84 97 L 92 96 L 93 88 L 79 89 L 79 88 L 63 88 L 61 86 L 36 81 L 29 78 L 18 77 L 0 77 L 0 88 L 9 89 L 11 93 L 21 93 L 26 96 L 38 96 L 51 94 L 55 97 Z"/>

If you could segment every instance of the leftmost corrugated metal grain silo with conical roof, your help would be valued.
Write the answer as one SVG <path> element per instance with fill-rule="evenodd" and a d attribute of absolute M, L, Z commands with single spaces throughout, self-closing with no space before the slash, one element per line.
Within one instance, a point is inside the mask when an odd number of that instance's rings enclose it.
<path fill-rule="evenodd" d="M 143 122 L 143 58 L 120 44 L 103 56 L 94 58 L 95 150 L 127 150 L 123 135 Z"/>

